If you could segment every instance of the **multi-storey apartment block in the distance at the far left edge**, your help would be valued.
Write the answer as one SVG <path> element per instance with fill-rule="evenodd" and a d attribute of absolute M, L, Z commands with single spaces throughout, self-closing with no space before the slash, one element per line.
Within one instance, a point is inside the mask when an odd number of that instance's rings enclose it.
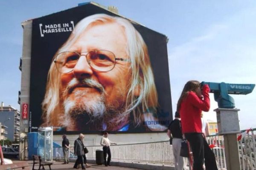
<path fill-rule="evenodd" d="M 0 107 L 0 122 L 5 128 L 7 139 L 10 141 L 19 141 L 20 139 L 20 112 L 12 106 L 4 106 L 3 102 Z M 1 131 L 2 133 L 2 131 Z"/>

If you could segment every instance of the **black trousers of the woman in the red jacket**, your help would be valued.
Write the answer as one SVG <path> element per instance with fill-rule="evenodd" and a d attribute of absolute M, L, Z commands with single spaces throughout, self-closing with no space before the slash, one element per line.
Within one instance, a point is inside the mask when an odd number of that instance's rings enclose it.
<path fill-rule="evenodd" d="M 185 137 L 189 141 L 193 153 L 193 170 L 204 170 L 204 163 L 206 170 L 218 170 L 215 155 L 202 133 L 185 133 Z"/>

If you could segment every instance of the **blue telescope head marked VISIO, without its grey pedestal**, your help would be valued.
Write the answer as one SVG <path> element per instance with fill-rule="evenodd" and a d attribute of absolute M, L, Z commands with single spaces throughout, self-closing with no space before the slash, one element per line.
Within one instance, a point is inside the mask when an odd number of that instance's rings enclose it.
<path fill-rule="evenodd" d="M 201 85 L 209 85 L 210 93 L 214 94 L 214 99 L 218 102 L 219 108 L 235 108 L 233 97 L 228 94 L 249 94 L 253 91 L 255 84 L 230 84 L 216 82 L 201 82 Z"/>

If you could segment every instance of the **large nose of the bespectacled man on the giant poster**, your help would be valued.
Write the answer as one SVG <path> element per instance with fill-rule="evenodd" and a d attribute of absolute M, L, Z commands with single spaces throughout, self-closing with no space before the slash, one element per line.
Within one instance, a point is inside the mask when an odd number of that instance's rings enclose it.
<path fill-rule="evenodd" d="M 73 74 L 77 79 L 84 79 L 92 76 L 93 70 L 87 62 L 86 56 L 81 55 L 73 69 Z"/>

